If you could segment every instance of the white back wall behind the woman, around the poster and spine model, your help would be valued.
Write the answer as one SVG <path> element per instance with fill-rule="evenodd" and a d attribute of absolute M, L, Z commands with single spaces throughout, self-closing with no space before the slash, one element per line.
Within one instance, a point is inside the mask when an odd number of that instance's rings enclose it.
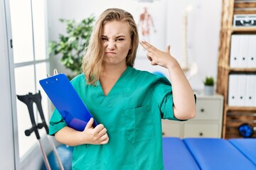
<path fill-rule="evenodd" d="M 171 55 L 176 57 L 178 62 L 182 62 L 182 12 L 188 5 L 193 9 L 188 15 L 188 60 L 196 62 L 198 74 L 189 79 L 193 89 L 203 89 L 203 79 L 206 76 L 217 78 L 218 62 L 218 40 L 220 31 L 221 0 L 161 0 L 166 3 L 166 8 L 154 9 L 154 11 L 166 11 L 166 38 L 165 47 L 171 45 Z M 124 8 L 133 14 L 136 6 L 131 6 L 136 0 L 55 0 L 48 1 L 48 26 L 49 40 L 57 40 L 59 33 L 65 33 L 65 26 L 58 21 L 58 18 L 75 19 L 80 21 L 82 18 L 94 14 L 98 16 L 106 8 Z M 154 13 L 155 14 L 155 13 Z M 135 17 L 134 17 L 135 18 Z M 161 18 L 157 18 L 161 20 Z M 155 42 L 157 45 L 159 42 Z M 165 47 L 161 47 L 165 50 Z M 66 72 L 60 64 L 60 57 L 51 60 L 53 67 L 59 72 Z M 139 57 L 135 67 L 153 71 L 159 67 L 151 66 L 150 62 Z M 165 69 L 159 69 L 164 74 L 168 74 Z"/>

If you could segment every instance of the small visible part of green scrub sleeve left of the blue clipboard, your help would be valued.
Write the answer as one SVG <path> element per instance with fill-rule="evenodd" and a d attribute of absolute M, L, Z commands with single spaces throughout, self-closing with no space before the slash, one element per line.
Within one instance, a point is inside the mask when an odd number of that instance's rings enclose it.
<path fill-rule="evenodd" d="M 62 128 L 64 128 L 67 125 L 65 123 L 65 120 L 62 118 L 60 113 L 55 110 L 53 111 L 53 115 L 50 117 L 50 123 L 49 123 L 49 135 L 54 135 L 55 132 L 58 132 Z"/>

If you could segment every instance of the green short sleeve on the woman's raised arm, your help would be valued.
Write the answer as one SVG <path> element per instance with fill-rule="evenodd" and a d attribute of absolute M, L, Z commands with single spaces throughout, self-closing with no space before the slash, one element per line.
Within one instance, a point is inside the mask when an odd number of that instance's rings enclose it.
<path fill-rule="evenodd" d="M 156 77 L 151 92 L 161 112 L 161 118 L 178 120 L 174 117 L 174 101 L 171 83 L 166 77 Z"/>

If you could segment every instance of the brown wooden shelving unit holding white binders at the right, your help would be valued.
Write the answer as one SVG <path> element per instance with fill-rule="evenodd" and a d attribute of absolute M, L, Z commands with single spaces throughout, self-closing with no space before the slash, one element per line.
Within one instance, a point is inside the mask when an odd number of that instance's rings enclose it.
<path fill-rule="evenodd" d="M 256 35 L 256 26 L 251 27 L 234 27 L 233 18 L 235 14 L 256 14 L 255 1 L 235 1 L 223 0 L 222 19 L 220 28 L 220 42 L 218 52 L 218 79 L 217 92 L 224 97 L 223 103 L 223 132 L 222 137 L 229 139 L 241 137 L 238 132 L 238 127 L 243 123 L 256 127 L 256 107 L 243 106 L 240 104 L 232 105 L 229 103 L 230 86 L 240 83 L 230 82 L 230 75 L 256 75 L 256 67 L 233 67 L 231 53 L 234 52 L 231 48 L 234 47 L 232 40 L 233 35 Z M 232 46 L 233 45 L 233 46 Z M 242 42 L 240 41 L 240 45 Z M 245 45 L 247 47 L 247 45 Z M 254 46 L 254 48 L 256 45 Z M 254 54 L 255 57 L 256 54 Z M 246 89 L 246 87 L 245 87 Z M 252 87 L 252 89 L 256 89 Z M 239 89 L 237 91 L 240 91 Z M 253 137 L 256 137 L 254 133 Z"/>

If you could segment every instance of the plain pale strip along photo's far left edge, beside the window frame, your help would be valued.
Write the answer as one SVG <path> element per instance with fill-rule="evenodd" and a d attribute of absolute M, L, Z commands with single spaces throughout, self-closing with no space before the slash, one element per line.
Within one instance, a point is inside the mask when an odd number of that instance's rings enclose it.
<path fill-rule="evenodd" d="M 14 135 L 4 0 L 0 1 L 0 11 L 0 166 L 1 169 L 14 169 Z"/>

